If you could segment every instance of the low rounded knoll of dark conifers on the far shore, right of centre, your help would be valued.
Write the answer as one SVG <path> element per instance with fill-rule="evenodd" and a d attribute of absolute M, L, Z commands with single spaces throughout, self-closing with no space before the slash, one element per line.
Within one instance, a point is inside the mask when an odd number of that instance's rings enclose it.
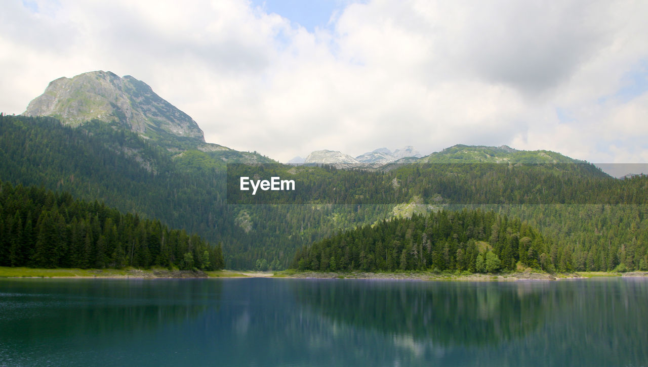
<path fill-rule="evenodd" d="M 295 254 L 297 269 L 495 272 L 553 270 L 550 243 L 518 219 L 495 212 L 432 212 L 383 221 L 314 243 Z"/>

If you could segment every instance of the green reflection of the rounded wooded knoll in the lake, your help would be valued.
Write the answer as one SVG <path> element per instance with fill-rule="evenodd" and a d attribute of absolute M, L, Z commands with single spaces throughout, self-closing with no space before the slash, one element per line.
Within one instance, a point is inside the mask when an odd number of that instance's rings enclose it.
<path fill-rule="evenodd" d="M 541 324 L 546 287 L 524 284 L 338 282 L 299 284 L 295 297 L 334 322 L 436 345 L 497 344 Z"/>

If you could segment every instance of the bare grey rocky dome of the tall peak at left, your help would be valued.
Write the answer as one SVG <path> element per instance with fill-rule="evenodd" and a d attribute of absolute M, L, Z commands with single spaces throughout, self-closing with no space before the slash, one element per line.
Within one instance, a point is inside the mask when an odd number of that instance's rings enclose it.
<path fill-rule="evenodd" d="M 156 95 L 146 83 L 110 71 L 52 81 L 23 115 L 55 117 L 71 126 L 93 119 L 115 121 L 148 139 L 170 134 L 205 141 L 203 131 L 189 115 Z"/>

